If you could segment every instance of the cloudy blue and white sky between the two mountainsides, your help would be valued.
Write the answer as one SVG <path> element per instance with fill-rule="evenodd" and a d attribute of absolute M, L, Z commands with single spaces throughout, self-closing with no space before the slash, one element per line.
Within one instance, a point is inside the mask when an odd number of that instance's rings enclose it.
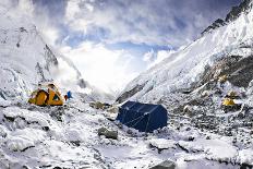
<path fill-rule="evenodd" d="M 241 0 L 13 0 L 85 80 L 117 92 Z"/>

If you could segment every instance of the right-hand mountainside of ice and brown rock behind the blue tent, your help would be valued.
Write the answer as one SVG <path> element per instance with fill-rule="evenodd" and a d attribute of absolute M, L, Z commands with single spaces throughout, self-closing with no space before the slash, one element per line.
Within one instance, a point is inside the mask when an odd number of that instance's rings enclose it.
<path fill-rule="evenodd" d="M 188 47 L 179 49 L 143 72 L 126 85 L 117 101 L 130 99 L 162 104 L 174 113 L 184 113 L 186 106 L 195 106 L 197 110 L 194 114 L 214 114 L 221 111 L 221 100 L 229 90 L 236 90 L 243 96 L 242 102 L 251 107 L 253 97 L 251 9 L 252 1 L 249 0 L 232 8 L 227 15 L 226 24 L 218 20 L 215 25 L 219 26 L 208 34 L 203 34 Z M 219 79 L 224 75 L 227 81 L 221 84 Z"/>

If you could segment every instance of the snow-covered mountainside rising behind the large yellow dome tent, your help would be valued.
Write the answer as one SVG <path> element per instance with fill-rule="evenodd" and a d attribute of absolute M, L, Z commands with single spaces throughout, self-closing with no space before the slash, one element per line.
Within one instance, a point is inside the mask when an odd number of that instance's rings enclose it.
<path fill-rule="evenodd" d="M 83 93 L 88 100 L 108 98 L 44 40 L 25 13 L 9 9 L 8 2 L 0 3 L 0 99 L 26 100 L 40 82 Z"/>

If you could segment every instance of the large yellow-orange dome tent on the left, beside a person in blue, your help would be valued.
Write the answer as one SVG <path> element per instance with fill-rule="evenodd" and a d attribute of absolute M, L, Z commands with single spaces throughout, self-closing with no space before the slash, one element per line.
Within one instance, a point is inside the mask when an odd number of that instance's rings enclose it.
<path fill-rule="evenodd" d="M 38 89 L 33 92 L 28 102 L 37 106 L 62 106 L 63 99 L 58 88 L 53 84 L 48 84 L 40 85 Z"/>

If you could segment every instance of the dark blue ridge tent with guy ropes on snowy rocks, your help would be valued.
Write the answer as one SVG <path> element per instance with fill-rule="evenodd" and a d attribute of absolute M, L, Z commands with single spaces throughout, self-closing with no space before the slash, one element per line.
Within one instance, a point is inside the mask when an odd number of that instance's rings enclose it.
<path fill-rule="evenodd" d="M 126 101 L 119 108 L 117 119 L 140 132 L 153 132 L 167 125 L 167 110 L 161 105 Z"/>

